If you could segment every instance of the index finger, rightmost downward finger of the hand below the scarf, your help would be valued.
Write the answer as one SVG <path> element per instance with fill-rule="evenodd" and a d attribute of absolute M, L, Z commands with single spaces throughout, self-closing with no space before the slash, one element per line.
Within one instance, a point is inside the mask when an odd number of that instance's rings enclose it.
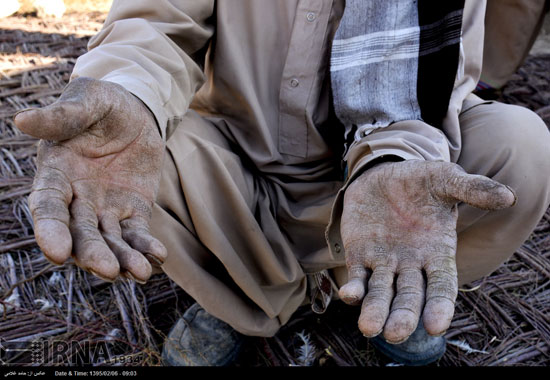
<path fill-rule="evenodd" d="M 424 268 L 427 277 L 423 321 L 428 334 L 445 333 L 454 315 L 458 280 L 454 257 L 434 257 Z"/>

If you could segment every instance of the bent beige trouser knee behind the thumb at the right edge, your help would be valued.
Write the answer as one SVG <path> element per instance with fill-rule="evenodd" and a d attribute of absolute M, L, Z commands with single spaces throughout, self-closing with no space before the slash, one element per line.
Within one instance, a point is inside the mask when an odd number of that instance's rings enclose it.
<path fill-rule="evenodd" d="M 550 132 L 523 107 L 500 103 L 468 110 L 459 164 L 510 186 L 516 205 L 488 212 L 459 206 L 459 281 L 471 282 L 500 266 L 528 239 L 550 203 Z"/>

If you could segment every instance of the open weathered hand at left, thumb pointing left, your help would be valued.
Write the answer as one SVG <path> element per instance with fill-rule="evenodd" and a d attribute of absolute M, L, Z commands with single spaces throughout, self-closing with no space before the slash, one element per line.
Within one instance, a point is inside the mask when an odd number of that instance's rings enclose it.
<path fill-rule="evenodd" d="M 41 139 L 29 206 L 46 257 L 61 265 L 72 254 L 108 281 L 147 281 L 150 262 L 167 255 L 149 233 L 164 143 L 147 107 L 117 84 L 77 78 L 15 124 Z"/>

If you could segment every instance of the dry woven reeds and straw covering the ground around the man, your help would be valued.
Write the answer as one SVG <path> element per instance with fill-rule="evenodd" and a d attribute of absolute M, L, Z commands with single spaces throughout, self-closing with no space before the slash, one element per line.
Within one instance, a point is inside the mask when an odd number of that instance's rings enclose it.
<path fill-rule="evenodd" d="M 146 285 L 110 284 L 70 263 L 49 264 L 36 246 L 26 204 L 36 141 L 12 122 L 17 110 L 55 101 L 104 16 L 0 20 L 0 343 L 86 343 L 105 351 L 92 358 L 96 364 L 158 365 L 166 332 L 192 300 L 164 275 Z M 549 68 L 550 56 L 529 57 L 500 100 L 529 107 L 550 125 Z M 236 365 L 391 364 L 361 336 L 357 314 L 340 303 L 324 315 L 302 308 L 277 336 L 251 339 Z M 434 366 L 550 363 L 550 212 L 505 266 L 460 292 L 447 338 L 447 353 Z M 16 354 L 0 352 L 0 359 L 63 364 L 53 354 Z M 66 362 L 78 362 L 78 346 L 63 354 Z"/>

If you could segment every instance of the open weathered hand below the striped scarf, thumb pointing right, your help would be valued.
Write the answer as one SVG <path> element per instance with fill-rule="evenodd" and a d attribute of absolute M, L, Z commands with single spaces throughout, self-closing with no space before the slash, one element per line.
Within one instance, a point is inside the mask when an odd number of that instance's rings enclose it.
<path fill-rule="evenodd" d="M 345 302 L 363 302 L 361 332 L 400 343 L 422 315 L 429 334 L 443 334 L 458 291 L 456 204 L 498 210 L 515 200 L 508 187 L 452 163 L 383 163 L 362 173 L 344 198 L 349 281 L 340 289 Z"/>

